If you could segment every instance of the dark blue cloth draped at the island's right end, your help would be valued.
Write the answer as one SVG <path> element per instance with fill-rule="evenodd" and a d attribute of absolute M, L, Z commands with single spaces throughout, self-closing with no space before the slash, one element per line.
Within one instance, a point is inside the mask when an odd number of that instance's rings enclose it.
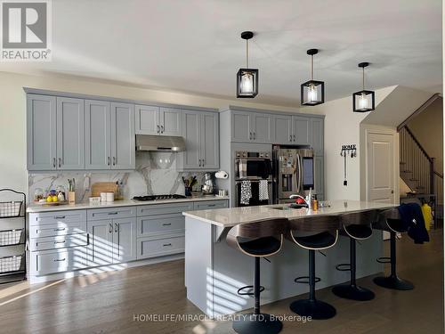
<path fill-rule="evenodd" d="M 425 228 L 422 208 L 417 203 L 401 204 L 399 213 L 401 214 L 401 222 L 414 243 L 424 243 L 430 240 Z"/>

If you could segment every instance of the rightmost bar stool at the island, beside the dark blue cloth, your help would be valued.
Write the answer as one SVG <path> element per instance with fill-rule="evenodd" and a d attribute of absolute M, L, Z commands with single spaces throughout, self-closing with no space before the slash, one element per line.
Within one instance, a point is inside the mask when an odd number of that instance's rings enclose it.
<path fill-rule="evenodd" d="M 391 273 L 389 276 L 379 276 L 374 278 L 376 285 L 387 289 L 412 290 L 413 283 L 402 280 L 396 271 L 396 249 L 395 241 L 397 233 L 408 232 L 401 223 L 401 216 L 398 208 L 391 208 L 380 212 L 378 222 L 373 226 L 375 229 L 390 232 L 390 257 L 378 257 L 377 262 L 381 264 L 391 264 Z"/>

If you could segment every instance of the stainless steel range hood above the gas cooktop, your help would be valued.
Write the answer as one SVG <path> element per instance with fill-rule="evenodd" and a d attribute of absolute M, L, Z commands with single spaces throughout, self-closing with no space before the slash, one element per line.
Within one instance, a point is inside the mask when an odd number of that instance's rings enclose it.
<path fill-rule="evenodd" d="M 175 135 L 136 134 L 136 151 L 185 151 L 185 141 Z"/>

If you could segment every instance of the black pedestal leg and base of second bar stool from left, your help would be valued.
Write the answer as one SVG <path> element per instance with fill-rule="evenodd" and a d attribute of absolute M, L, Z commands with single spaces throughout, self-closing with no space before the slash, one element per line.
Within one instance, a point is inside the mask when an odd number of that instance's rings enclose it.
<path fill-rule="evenodd" d="M 315 298 L 315 250 L 309 250 L 309 299 L 295 300 L 289 307 L 292 312 L 312 319 L 330 319 L 336 315 L 334 306 Z"/>

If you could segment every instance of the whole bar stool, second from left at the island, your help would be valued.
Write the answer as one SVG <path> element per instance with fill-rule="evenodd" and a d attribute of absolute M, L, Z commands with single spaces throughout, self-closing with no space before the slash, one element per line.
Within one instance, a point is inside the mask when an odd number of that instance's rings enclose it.
<path fill-rule="evenodd" d="M 309 250 L 309 276 L 295 278 L 295 283 L 309 284 L 309 299 L 295 300 L 289 307 L 292 312 L 312 319 L 329 319 L 336 315 L 334 306 L 315 298 L 315 251 L 331 248 L 338 239 L 338 216 L 312 216 L 289 219 L 287 239 Z"/>

